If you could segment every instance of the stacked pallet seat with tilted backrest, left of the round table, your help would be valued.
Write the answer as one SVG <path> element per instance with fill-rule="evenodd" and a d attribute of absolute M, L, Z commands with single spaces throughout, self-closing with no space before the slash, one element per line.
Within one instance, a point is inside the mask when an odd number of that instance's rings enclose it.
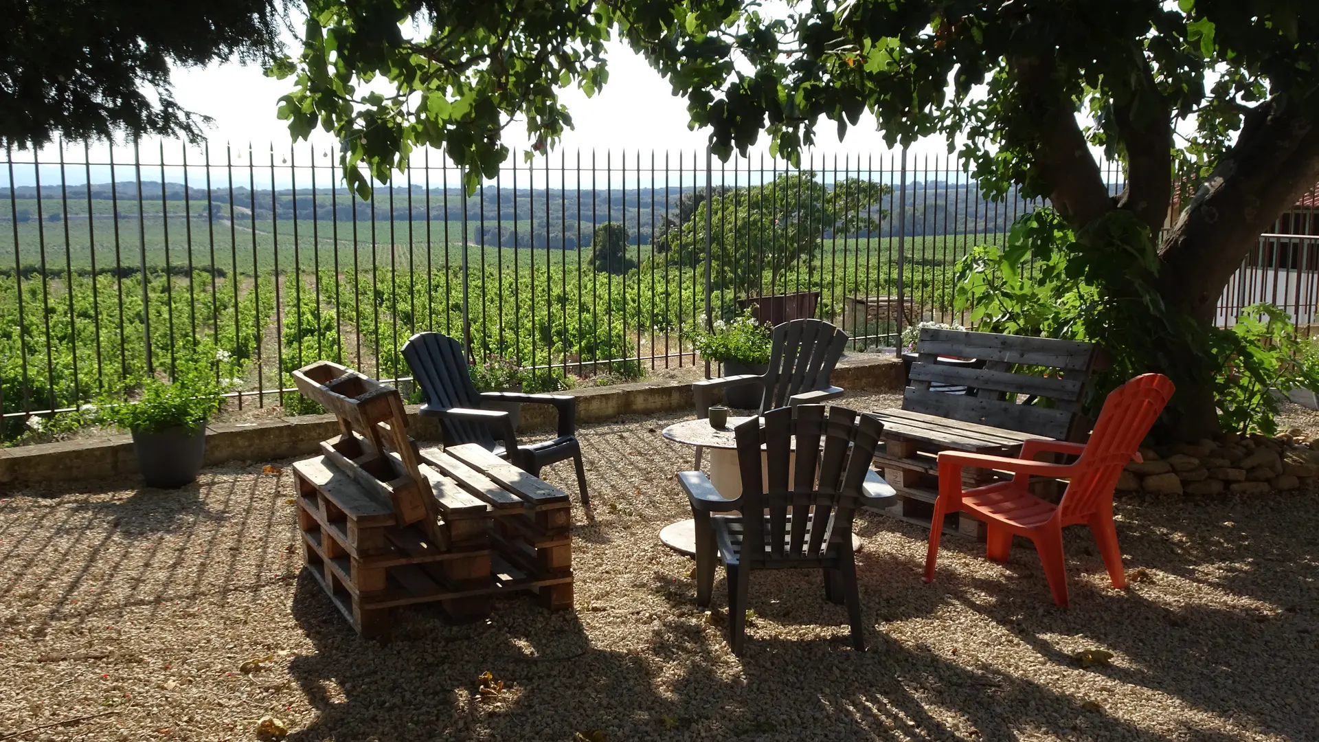
<path fill-rule="evenodd" d="M 294 380 L 340 428 L 293 465 L 306 570 L 359 634 L 386 634 L 405 605 L 438 603 L 454 621 L 514 591 L 572 606 L 566 492 L 475 444 L 418 452 L 398 392 L 343 366 Z"/>

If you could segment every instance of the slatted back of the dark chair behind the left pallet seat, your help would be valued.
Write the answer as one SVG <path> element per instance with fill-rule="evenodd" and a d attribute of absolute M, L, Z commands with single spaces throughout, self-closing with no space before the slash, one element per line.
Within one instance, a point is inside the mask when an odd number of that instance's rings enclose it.
<path fill-rule="evenodd" d="M 413 379 L 426 392 L 426 401 L 435 409 L 481 408 L 481 395 L 472 384 L 472 375 L 463 354 L 463 343 L 442 333 L 417 333 L 404 343 L 404 359 Z M 479 422 L 442 420 L 445 445 L 480 444 L 495 448 L 495 437 Z"/>

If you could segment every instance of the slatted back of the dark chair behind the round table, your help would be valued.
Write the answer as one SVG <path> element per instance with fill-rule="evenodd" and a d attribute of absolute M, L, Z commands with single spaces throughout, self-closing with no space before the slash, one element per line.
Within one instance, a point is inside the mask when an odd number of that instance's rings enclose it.
<path fill-rule="evenodd" d="M 776 326 L 760 412 L 786 405 L 793 395 L 827 389 L 845 345 L 847 333 L 823 320 L 793 320 Z"/>

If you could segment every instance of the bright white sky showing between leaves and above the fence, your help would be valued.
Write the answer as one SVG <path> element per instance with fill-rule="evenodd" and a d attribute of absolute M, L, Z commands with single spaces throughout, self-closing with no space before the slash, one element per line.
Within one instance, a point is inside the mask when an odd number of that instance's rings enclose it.
<path fill-rule="evenodd" d="M 691 154 L 694 152 L 700 153 L 700 164 L 703 165 L 708 131 L 692 131 L 689 128 L 686 102 L 682 98 L 674 96 L 669 83 L 650 69 L 641 55 L 633 53 L 623 42 L 609 42 L 607 51 L 609 82 L 601 91 L 592 98 L 587 98 L 576 87 L 561 91 L 562 100 L 567 106 L 575 125 L 565 133 L 558 147 L 551 151 L 551 165 L 558 164 L 559 156 L 563 153 L 571 168 L 578 152 L 582 152 L 583 162 L 587 162 L 592 149 L 601 168 L 604 166 L 607 152 L 611 153 L 615 169 L 620 165 L 621 154 L 627 152 L 627 168 L 630 170 L 634 166 L 638 149 L 642 152 L 645 164 L 649 164 L 649 153 L 653 149 L 657 153 L 657 164 L 662 164 L 663 153 L 669 152 L 671 164 L 677 168 L 677 157 L 681 151 L 683 152 L 685 166 L 689 168 L 687 172 L 690 172 Z M 284 153 L 289 151 L 289 131 L 286 124 L 276 118 L 276 110 L 280 96 L 289 92 L 291 87 L 291 81 L 268 78 L 260 67 L 244 66 L 236 62 L 215 63 L 206 67 L 178 67 L 173 71 L 175 100 L 189 111 L 212 119 L 211 125 L 206 128 L 206 136 L 211 145 L 212 162 L 224 162 L 226 144 L 228 143 L 233 147 L 232 157 L 235 165 L 247 168 L 248 157 L 245 153 L 251 144 L 256 152 L 252 160 L 257 170 L 255 174 L 257 187 L 262 185 L 268 186 L 270 181 L 269 169 L 262 170 L 261 168 L 262 161 L 266 165 L 269 164 L 270 147 L 274 145 L 276 148 L 277 161 L 282 161 Z M 896 158 L 900 157 L 900 151 L 890 151 L 884 144 L 882 132 L 877 131 L 874 118 L 868 114 L 856 127 L 849 127 L 842 140 L 838 137 L 836 125 L 832 121 L 822 120 L 816 131 L 816 137 L 814 154 L 822 160 L 827 157 L 830 162 L 838 156 L 840 168 L 843 166 L 844 156 L 849 162 L 856 162 L 859 156 L 869 158 L 876 169 L 881 165 L 886 168 L 890 162 L 894 162 L 894 166 L 897 166 Z M 318 148 L 318 152 L 323 152 L 324 148 L 335 143 L 331 135 L 319 129 L 313 132 L 310 141 Z M 762 137 L 757 147 L 752 148 L 753 157 L 768 152 L 768 137 Z M 526 131 L 520 123 L 513 123 L 505 129 L 505 144 L 514 149 L 528 147 Z M 166 140 L 164 145 L 166 162 L 171 165 L 178 164 L 182 153 L 181 143 Z M 295 147 L 298 157 L 306 158 L 307 143 L 298 143 Z M 161 143 L 157 140 L 142 143 L 140 153 L 142 180 L 160 180 L 160 148 Z M 42 165 L 40 168 L 41 182 L 55 184 L 59 182 L 61 177 L 70 185 L 86 182 L 86 169 L 80 165 L 83 161 L 80 149 L 80 147 L 74 147 L 66 151 L 69 161 L 78 162 L 78 165 L 67 166 L 62 174 L 58 165 Z M 909 148 L 909 157 L 913 164 L 921 158 L 933 162 L 934 157 L 939 157 L 942 162 L 946 152 L 947 148 L 942 139 L 926 140 Z M 41 152 L 40 158 L 42 162 L 58 162 L 58 154 L 57 148 L 49 147 Z M 94 145 L 90 156 L 92 162 L 102 164 L 92 168 L 92 182 L 109 181 L 109 168 L 104 165 L 107 162 L 107 147 Z M 199 162 L 200 151 L 191 149 L 187 157 L 190 165 Z M 803 154 L 803 157 L 806 156 Z M 30 162 L 30 154 L 26 152 L 16 152 L 13 158 L 15 162 Z M 115 160 L 117 164 L 115 180 L 132 180 L 132 169 L 125 165 L 125 162 L 132 161 L 131 148 L 117 147 Z M 305 161 L 302 160 L 297 164 L 302 165 Z M 510 161 L 512 157 L 509 161 L 505 161 L 505 168 L 510 165 Z M 318 154 L 317 164 L 328 168 L 331 161 Z M 517 164 L 520 168 L 524 166 L 521 156 L 518 156 Z M 431 156 L 431 166 L 439 168 L 439 161 L 437 161 L 434 154 Z M 718 170 L 718 168 L 719 161 L 715 160 L 715 169 Z M 33 185 L 36 181 L 34 170 L 30 165 L 17 165 L 13 178 L 15 184 Z M 204 178 L 204 170 L 190 168 L 189 172 L 194 184 Z M 324 185 L 326 181 L 323 178 L 328 174 L 326 172 L 324 176 L 318 176 L 318 181 Z M 247 176 L 248 173 L 235 174 L 235 184 L 241 185 L 239 181 L 248 180 Z M 309 172 L 301 172 L 297 176 L 299 187 L 305 186 L 309 176 Z M 227 182 L 224 168 L 212 168 L 211 177 L 212 185 Z M 456 182 L 456 172 L 454 172 L 452 178 L 451 182 Z M 0 170 L 0 187 L 5 187 L 8 180 L 8 173 Z M 182 168 L 166 168 L 165 180 L 181 181 Z M 718 182 L 718 174 L 715 180 Z M 522 182 L 522 178 L 520 177 L 518 181 Z M 276 184 L 278 187 L 288 187 L 288 168 L 276 169 Z M 506 178 L 504 184 L 506 187 Z M 551 182 L 551 186 L 554 185 Z M 568 185 L 571 187 L 571 184 Z"/>

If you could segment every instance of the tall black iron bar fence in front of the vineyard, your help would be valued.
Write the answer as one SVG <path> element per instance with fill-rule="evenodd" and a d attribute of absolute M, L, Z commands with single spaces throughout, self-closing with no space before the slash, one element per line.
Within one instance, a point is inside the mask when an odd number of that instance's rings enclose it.
<path fill-rule="evenodd" d="M 906 322 L 958 320 L 956 260 L 1038 206 L 984 198 L 955 157 L 906 153 L 797 168 L 513 153 L 464 197 L 462 173 L 425 151 L 369 201 L 340 185 L 336 161 L 310 145 L 8 153 L 0 437 L 168 370 L 189 338 L 249 360 L 237 397 L 259 407 L 299 405 L 289 372 L 319 358 L 406 379 L 398 349 L 422 330 L 546 376 L 536 383 L 698 363 L 691 331 L 749 302 L 832 320 L 855 350 L 893 346 Z M 1120 168 L 1105 174 L 1120 190 Z M 1314 320 L 1315 238 L 1290 234 L 1319 231 L 1312 201 L 1261 235 L 1220 322 L 1269 297 Z"/>

